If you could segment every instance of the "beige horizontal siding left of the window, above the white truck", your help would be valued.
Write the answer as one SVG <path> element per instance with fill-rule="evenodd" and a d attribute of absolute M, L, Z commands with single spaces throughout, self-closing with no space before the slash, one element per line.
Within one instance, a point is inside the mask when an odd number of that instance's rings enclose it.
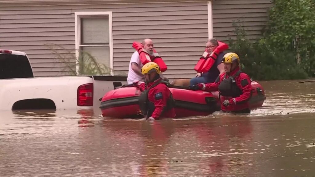
<path fill-rule="evenodd" d="M 0 48 L 25 52 L 35 77 L 67 76 L 75 65 L 74 14 L 71 9 L 0 7 Z M 46 45 L 45 45 L 46 44 Z M 53 50 L 47 45 L 54 45 Z M 71 68 L 75 71 L 75 67 Z"/>

